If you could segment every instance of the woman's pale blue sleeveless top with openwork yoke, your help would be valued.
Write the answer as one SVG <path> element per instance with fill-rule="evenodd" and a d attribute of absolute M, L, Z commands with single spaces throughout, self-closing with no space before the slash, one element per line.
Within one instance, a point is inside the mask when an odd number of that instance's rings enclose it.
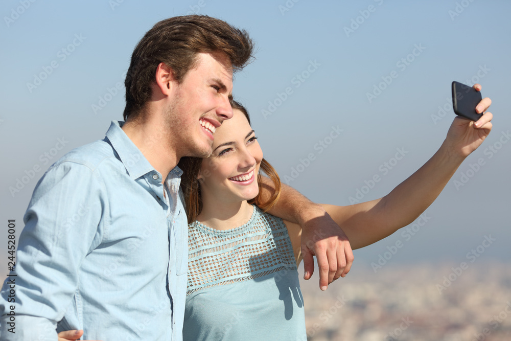
<path fill-rule="evenodd" d="M 307 340 L 296 261 L 282 219 L 253 206 L 238 228 L 188 228 L 183 340 Z"/>

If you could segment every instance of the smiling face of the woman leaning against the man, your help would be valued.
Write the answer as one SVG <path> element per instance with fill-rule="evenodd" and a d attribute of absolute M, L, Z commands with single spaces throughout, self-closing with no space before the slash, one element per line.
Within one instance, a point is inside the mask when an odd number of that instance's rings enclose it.
<path fill-rule="evenodd" d="M 257 175 L 263 151 L 240 110 L 215 132 L 213 153 L 202 160 L 199 172 L 203 200 L 250 200 L 258 195 Z"/>

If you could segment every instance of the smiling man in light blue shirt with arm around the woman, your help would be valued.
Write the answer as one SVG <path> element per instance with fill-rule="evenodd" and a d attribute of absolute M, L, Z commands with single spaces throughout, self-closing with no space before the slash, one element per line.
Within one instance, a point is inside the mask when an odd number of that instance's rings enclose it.
<path fill-rule="evenodd" d="M 2 339 L 55 340 L 58 322 L 85 339 L 181 339 L 188 250 L 176 165 L 211 153 L 233 116 L 233 72 L 251 55 L 245 31 L 206 16 L 146 33 L 126 76 L 126 122 L 64 155 L 34 190 L 10 277 L 15 303 L 9 279 L 0 299 Z M 286 188 L 272 212 L 304 226 L 307 278 L 313 254 L 322 289 L 345 276 L 351 248 L 324 210 Z"/>

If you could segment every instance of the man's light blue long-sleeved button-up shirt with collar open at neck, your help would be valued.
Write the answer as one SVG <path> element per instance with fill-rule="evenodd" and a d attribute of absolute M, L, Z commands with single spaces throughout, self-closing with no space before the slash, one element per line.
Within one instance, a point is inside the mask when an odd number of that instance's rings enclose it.
<path fill-rule="evenodd" d="M 2 340 L 181 340 L 187 218 L 181 170 L 162 177 L 113 121 L 39 180 L 19 236 L 15 303 L 0 294 Z M 15 306 L 15 320 L 6 315 Z M 11 319 L 12 320 L 12 319 Z M 15 333 L 9 323 L 14 323 Z M 12 330 L 12 329 L 11 329 Z"/>

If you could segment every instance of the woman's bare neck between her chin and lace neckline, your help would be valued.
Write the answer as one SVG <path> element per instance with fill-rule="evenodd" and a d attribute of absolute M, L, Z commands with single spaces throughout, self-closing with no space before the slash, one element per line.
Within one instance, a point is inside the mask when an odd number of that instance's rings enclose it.
<path fill-rule="evenodd" d="M 225 203 L 217 200 L 204 200 L 197 220 L 215 230 L 230 230 L 250 220 L 253 207 L 246 200 Z"/>

